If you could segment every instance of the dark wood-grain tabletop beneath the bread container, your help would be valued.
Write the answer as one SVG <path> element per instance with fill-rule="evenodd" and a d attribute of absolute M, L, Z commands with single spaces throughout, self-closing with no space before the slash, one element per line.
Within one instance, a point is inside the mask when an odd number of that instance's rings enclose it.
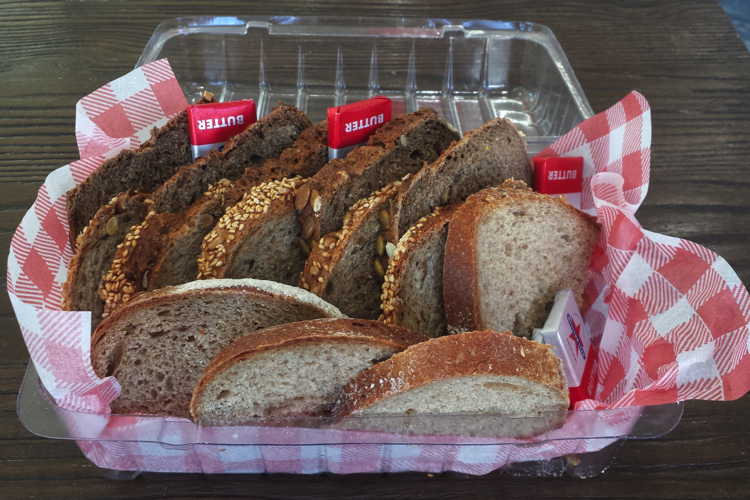
<path fill-rule="evenodd" d="M 631 89 L 653 109 L 651 230 L 699 242 L 750 282 L 750 55 L 717 3 L 378 0 L 0 2 L 0 271 L 40 181 L 76 158 L 77 99 L 127 72 L 156 24 L 195 14 L 348 14 L 529 20 L 552 28 L 595 111 Z M 564 4 L 564 5 L 557 5 Z M 4 279 L 2 280 L 4 286 Z M 333 476 L 145 474 L 103 479 L 70 442 L 37 438 L 15 414 L 28 354 L 0 295 L 0 497 L 748 498 L 750 397 L 689 402 L 661 439 L 624 444 L 589 480 L 499 473 Z"/>

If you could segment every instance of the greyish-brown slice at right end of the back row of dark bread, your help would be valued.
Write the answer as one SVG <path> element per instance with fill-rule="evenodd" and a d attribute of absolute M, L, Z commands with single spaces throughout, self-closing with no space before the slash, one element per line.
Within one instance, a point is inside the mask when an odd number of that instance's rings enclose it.
<path fill-rule="evenodd" d="M 513 124 L 503 118 L 490 120 L 453 143 L 401 186 L 393 203 L 388 240 L 398 241 L 435 207 L 460 203 L 505 179 L 530 185 L 532 174 L 526 144 Z"/>

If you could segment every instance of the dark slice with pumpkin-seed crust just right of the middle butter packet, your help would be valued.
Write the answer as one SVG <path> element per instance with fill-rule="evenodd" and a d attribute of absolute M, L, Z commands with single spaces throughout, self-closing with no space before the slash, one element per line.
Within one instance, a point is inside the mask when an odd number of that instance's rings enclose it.
<path fill-rule="evenodd" d="M 401 115 L 343 159 L 334 159 L 295 195 L 308 242 L 341 228 L 354 203 L 434 161 L 458 134 L 431 109 Z"/>

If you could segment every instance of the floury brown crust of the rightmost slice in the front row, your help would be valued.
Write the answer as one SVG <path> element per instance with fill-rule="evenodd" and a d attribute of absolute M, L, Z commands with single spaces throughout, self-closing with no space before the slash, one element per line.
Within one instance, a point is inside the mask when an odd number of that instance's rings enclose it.
<path fill-rule="evenodd" d="M 344 387 L 333 415 L 351 415 L 431 382 L 477 375 L 526 378 L 559 393 L 567 407 L 560 359 L 551 347 L 510 332 L 483 330 L 413 345 L 364 370 Z"/>

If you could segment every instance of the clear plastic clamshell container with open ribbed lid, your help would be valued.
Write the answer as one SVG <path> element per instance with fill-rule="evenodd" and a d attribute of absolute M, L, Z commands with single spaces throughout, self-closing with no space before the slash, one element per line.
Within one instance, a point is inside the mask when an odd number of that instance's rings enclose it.
<path fill-rule="evenodd" d="M 137 65 L 167 58 L 191 101 L 203 91 L 219 101 L 255 99 L 258 114 L 283 101 L 323 120 L 330 106 L 375 95 L 393 100 L 394 114 L 421 107 L 435 109 L 462 133 L 504 117 L 523 131 L 534 155 L 561 134 L 592 116 L 565 54 L 552 32 L 533 23 L 487 20 L 342 17 L 196 17 L 160 24 Z M 606 440 L 602 450 L 574 460 L 559 457 L 506 466 L 509 473 L 591 477 L 606 470 L 623 439 L 654 438 L 679 422 L 681 404 L 605 411 L 569 411 L 562 430 L 527 438 Z M 18 415 L 31 432 L 49 438 L 159 443 L 178 446 L 278 445 L 498 445 L 519 417 L 507 415 L 419 416 L 431 429 L 456 426 L 481 429 L 473 436 L 445 432 L 426 436 L 408 416 L 359 417 L 347 428 L 387 432 L 349 432 L 326 418 L 278 421 L 306 428 L 296 442 L 275 442 L 272 433 L 242 427 L 201 428 L 186 419 L 151 418 L 147 433 L 129 433 L 124 415 L 90 415 L 57 407 L 40 387 L 30 364 L 18 396 Z M 559 418 L 540 415 L 532 419 Z M 432 422 L 429 422 L 432 419 Z M 524 417 L 523 420 L 529 420 Z M 565 434 L 567 423 L 582 422 Z M 613 424 L 613 422 L 615 424 Z M 257 423 L 260 425 L 261 423 Z M 433 425 L 434 424 L 434 425 Z M 573 426 L 571 426 L 573 427 Z M 250 427 L 248 427 L 249 429 Z M 255 427 L 257 429 L 257 427 Z M 262 438 L 259 436 L 263 436 Z"/>

